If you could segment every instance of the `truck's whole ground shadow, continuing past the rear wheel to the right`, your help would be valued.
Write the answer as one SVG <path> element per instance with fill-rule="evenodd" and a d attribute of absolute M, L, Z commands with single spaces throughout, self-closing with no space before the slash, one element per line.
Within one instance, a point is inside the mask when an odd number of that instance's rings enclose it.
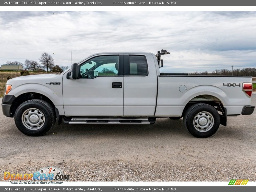
<path fill-rule="evenodd" d="M 58 134 L 63 137 L 160 137 L 171 136 L 183 138 L 195 138 L 184 127 L 183 119 L 171 120 L 169 118 L 158 118 L 153 125 L 55 125 L 45 136 Z M 254 135 L 254 134 L 253 134 Z M 220 125 L 218 131 L 210 138 L 250 138 L 251 134 L 245 133 L 239 127 L 224 127 Z M 199 138 L 195 138 L 199 139 Z"/>

